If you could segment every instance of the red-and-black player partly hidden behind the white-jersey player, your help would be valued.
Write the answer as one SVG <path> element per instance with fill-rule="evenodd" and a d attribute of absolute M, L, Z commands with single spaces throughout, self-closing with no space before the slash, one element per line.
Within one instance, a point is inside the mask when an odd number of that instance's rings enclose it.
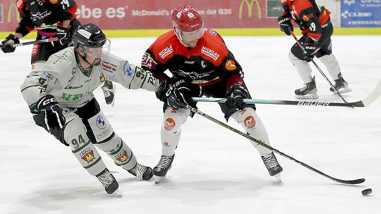
<path fill-rule="evenodd" d="M 35 44 L 32 49 L 32 71 L 41 70 L 49 56 L 72 44 L 72 35 L 80 26 L 75 11 L 78 6 L 74 0 L 16 0 L 20 22 L 15 34 L 9 34 L 1 42 L 4 53 L 12 53 L 19 39 L 37 28 L 36 40 L 58 37 L 59 41 Z M 115 84 L 106 80 L 102 86 L 107 104 L 114 105 Z"/>

